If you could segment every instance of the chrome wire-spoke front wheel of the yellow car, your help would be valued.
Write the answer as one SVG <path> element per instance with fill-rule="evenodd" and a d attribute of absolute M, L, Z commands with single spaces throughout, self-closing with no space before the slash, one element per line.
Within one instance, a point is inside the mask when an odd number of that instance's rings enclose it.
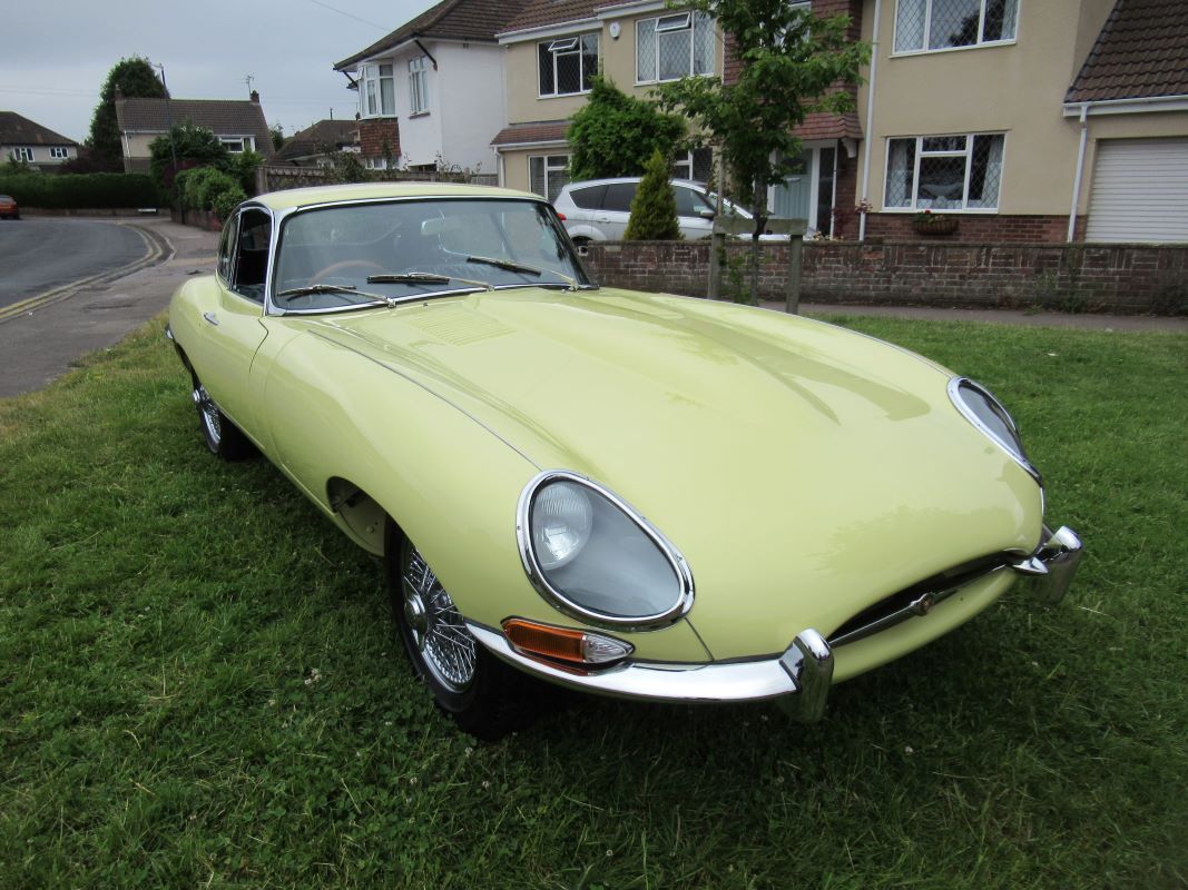
<path fill-rule="evenodd" d="M 475 640 L 421 552 L 405 540 L 400 577 L 404 621 L 426 669 L 450 692 L 474 681 Z"/>

